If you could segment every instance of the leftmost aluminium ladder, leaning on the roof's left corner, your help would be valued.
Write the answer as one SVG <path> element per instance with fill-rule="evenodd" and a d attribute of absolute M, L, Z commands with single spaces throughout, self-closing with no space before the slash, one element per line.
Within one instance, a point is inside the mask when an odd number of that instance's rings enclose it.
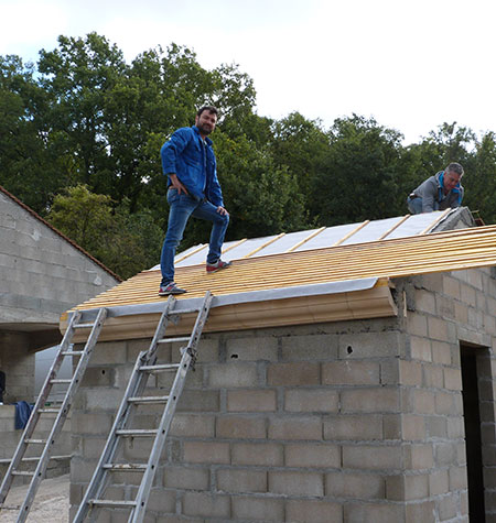
<path fill-rule="evenodd" d="M 62 427 L 64 425 L 65 420 L 67 418 L 67 414 L 71 410 L 73 399 L 77 392 L 77 389 L 79 388 L 80 381 L 85 373 L 86 367 L 88 366 L 89 358 L 91 356 L 93 349 L 96 345 L 98 335 L 101 330 L 106 317 L 107 309 L 100 308 L 97 313 L 95 322 L 93 323 L 80 323 L 79 320 L 82 318 L 82 313 L 79 310 L 76 310 L 71 318 L 69 325 L 62 339 L 60 349 L 54 359 L 52 368 L 50 369 L 44 385 L 40 392 L 40 395 L 37 396 L 31 416 L 28 421 L 21 439 L 19 440 L 15 453 L 12 457 L 10 466 L 6 472 L 2 484 L 0 487 L 0 510 L 19 510 L 17 520 L 18 523 L 24 522 L 28 517 L 34 497 L 36 495 L 37 488 L 40 487 L 41 481 L 45 477 L 46 468 L 48 466 L 54 444 L 62 432 Z M 91 330 L 84 349 L 80 351 L 76 351 L 73 350 L 72 340 L 74 338 L 75 331 L 82 328 L 90 328 Z M 72 378 L 57 379 L 62 362 L 66 357 L 78 357 L 79 361 L 76 366 L 73 364 Z M 60 406 L 57 405 L 56 407 L 46 407 L 45 403 L 48 399 L 50 392 L 53 385 L 56 384 L 67 385 L 62 404 Z M 33 435 L 36 429 L 37 422 L 43 417 L 43 414 L 56 415 L 54 416 L 52 427 L 48 429 L 48 437 L 46 439 L 37 439 L 34 438 Z M 28 448 L 30 448 L 31 450 L 33 446 L 37 448 L 40 448 L 40 446 L 42 447 L 41 455 L 35 459 L 35 462 L 37 461 L 35 470 L 34 472 L 21 470 L 22 466 L 25 465 L 26 461 L 32 461 L 32 458 L 24 458 L 24 455 L 26 454 Z M 15 476 L 31 477 L 30 486 L 22 505 L 7 506 L 3 503 Z"/>

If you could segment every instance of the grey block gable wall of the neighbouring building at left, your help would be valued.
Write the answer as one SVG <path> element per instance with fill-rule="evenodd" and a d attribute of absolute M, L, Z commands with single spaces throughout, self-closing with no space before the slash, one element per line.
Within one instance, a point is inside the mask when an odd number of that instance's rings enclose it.
<path fill-rule="evenodd" d="M 50 322 L 117 284 L 26 209 L 0 193 L 2 323 Z"/>

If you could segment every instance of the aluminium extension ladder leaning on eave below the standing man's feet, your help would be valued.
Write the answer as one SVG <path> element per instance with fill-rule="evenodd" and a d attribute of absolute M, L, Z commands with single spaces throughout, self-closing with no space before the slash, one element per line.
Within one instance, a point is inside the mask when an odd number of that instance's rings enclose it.
<path fill-rule="evenodd" d="M 122 402 L 117 412 L 114 426 L 110 429 L 104 451 L 95 469 L 93 478 L 88 484 L 85 495 L 79 504 L 79 510 L 73 523 L 79 523 L 87 516 L 89 521 L 96 521 L 99 509 L 127 509 L 130 510 L 128 522 L 141 523 L 147 510 L 147 502 L 150 495 L 153 478 L 159 465 L 162 449 L 174 417 L 175 408 L 181 396 L 181 392 L 186 381 L 190 369 L 194 370 L 197 355 L 197 345 L 202 336 L 203 327 L 208 316 L 212 304 L 212 294 L 207 292 L 200 307 L 187 310 L 174 310 L 176 299 L 170 296 L 165 308 L 160 317 L 159 325 L 154 333 L 150 348 L 142 351 L 137 360 L 130 375 Z M 177 323 L 180 315 L 197 312 L 196 322 L 191 336 L 164 338 L 169 320 Z M 187 341 L 187 346 L 181 349 L 182 357 L 180 363 L 158 364 L 157 349 L 160 344 L 173 344 Z M 148 379 L 160 372 L 175 371 L 175 378 L 169 395 L 149 396 L 143 395 Z M 155 429 L 136 428 L 131 425 L 139 405 L 163 404 L 164 410 L 160 423 Z M 118 453 L 119 444 L 123 438 L 153 438 L 152 448 L 148 462 L 130 464 L 122 462 L 126 458 L 123 453 Z M 110 472 L 139 472 L 142 473 L 137 497 L 132 501 L 104 499 Z"/>

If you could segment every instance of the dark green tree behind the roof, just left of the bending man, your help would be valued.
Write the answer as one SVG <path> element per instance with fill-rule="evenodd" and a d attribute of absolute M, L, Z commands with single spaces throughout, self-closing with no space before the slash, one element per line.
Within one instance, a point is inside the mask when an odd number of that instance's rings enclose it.
<path fill-rule="evenodd" d="M 336 119 L 324 168 L 315 176 L 310 209 L 331 226 L 395 216 L 400 200 L 401 134 L 375 119 Z"/>

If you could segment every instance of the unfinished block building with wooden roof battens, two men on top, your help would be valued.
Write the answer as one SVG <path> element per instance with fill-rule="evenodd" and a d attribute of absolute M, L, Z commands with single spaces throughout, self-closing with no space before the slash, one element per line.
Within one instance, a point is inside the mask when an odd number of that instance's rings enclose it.
<path fill-rule="evenodd" d="M 179 305 L 207 290 L 214 303 L 145 521 L 496 520 L 496 228 L 470 218 L 231 242 L 214 275 L 202 246 L 179 255 Z M 163 308 L 159 282 L 145 271 L 78 306 L 109 318 L 73 406 L 72 514 Z M 148 408 L 144 424 L 161 414 Z M 140 461 L 147 445 L 122 451 Z M 115 499 L 132 499 L 136 475 L 112 478 Z"/>

